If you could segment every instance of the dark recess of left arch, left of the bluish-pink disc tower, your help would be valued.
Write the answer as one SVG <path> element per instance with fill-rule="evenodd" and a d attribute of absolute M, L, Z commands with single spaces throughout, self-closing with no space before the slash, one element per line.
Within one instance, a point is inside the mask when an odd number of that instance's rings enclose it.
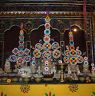
<path fill-rule="evenodd" d="M 19 26 L 12 26 L 4 33 L 4 57 L 7 58 L 13 48 L 18 46 Z"/>

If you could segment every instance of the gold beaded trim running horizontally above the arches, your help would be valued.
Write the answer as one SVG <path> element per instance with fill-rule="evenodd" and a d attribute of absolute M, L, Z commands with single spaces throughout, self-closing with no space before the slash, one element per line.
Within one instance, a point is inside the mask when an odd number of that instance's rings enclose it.
<path fill-rule="evenodd" d="M 93 12 L 87 12 L 87 16 L 92 16 Z M 41 16 L 46 17 L 46 11 L 1 11 L 0 17 L 14 17 L 14 16 L 24 16 L 24 17 L 31 17 L 31 16 Z M 83 12 L 63 12 L 63 11 L 50 11 L 49 16 L 83 16 Z"/>

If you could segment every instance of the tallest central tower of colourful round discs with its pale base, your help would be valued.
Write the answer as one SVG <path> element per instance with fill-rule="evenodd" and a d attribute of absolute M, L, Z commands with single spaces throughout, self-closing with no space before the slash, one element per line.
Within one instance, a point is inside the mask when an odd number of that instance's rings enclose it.
<path fill-rule="evenodd" d="M 42 73 L 43 75 L 50 75 L 56 70 L 53 60 L 58 60 L 61 56 L 60 47 L 58 42 L 51 43 L 51 30 L 50 30 L 50 17 L 47 15 L 45 18 L 45 30 L 43 43 L 37 43 L 35 45 L 35 50 L 33 51 L 33 56 L 36 61 L 42 62 Z M 55 73 L 55 72 L 54 72 Z"/>

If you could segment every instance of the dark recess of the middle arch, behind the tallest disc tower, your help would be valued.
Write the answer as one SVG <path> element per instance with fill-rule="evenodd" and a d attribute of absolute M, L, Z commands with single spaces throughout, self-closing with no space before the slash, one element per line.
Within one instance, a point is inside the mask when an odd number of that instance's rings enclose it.
<path fill-rule="evenodd" d="M 44 25 L 40 25 L 38 28 L 31 30 L 31 32 L 28 34 L 29 39 L 31 41 L 32 46 L 34 47 L 36 43 L 39 42 L 39 40 L 43 39 L 44 36 Z M 60 32 L 56 28 L 50 28 L 51 30 L 51 39 L 60 42 Z"/>

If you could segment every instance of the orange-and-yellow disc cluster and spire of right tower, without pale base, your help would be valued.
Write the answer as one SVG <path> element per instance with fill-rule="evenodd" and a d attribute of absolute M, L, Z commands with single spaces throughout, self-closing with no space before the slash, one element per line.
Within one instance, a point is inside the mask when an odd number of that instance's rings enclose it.
<path fill-rule="evenodd" d="M 83 57 L 81 55 L 82 52 L 79 50 L 79 47 L 76 49 L 74 47 L 73 33 L 69 32 L 69 46 L 66 46 L 64 52 L 64 62 L 71 65 L 82 63 Z"/>

